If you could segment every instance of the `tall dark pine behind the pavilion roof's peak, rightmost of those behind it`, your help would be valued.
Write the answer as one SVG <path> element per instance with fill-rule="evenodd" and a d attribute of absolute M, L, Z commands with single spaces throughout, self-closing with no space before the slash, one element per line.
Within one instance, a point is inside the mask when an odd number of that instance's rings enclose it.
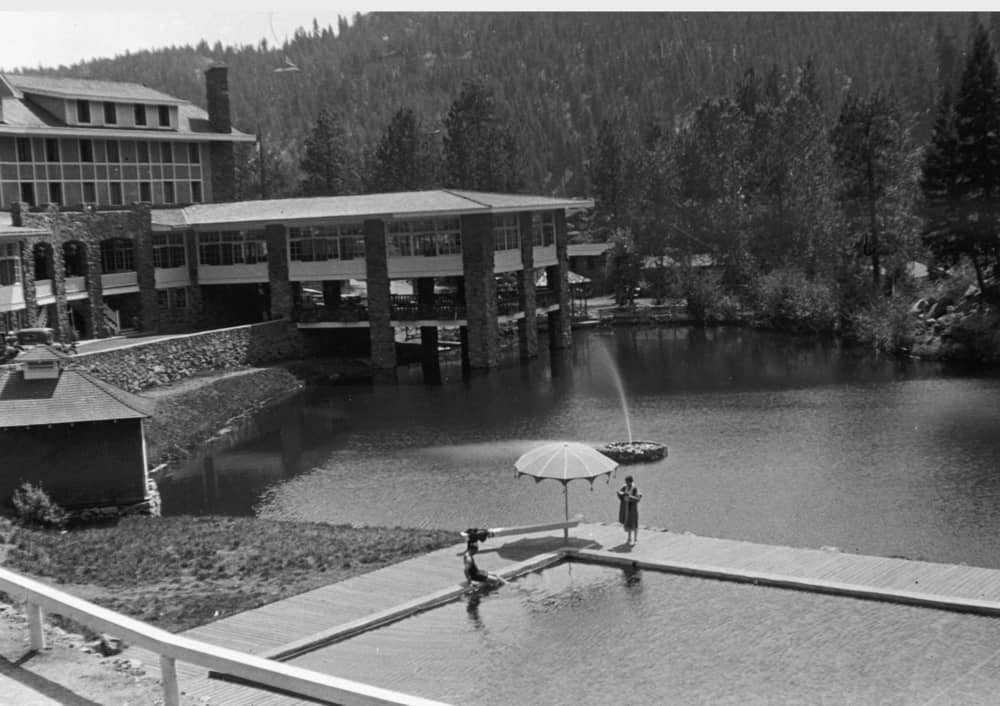
<path fill-rule="evenodd" d="M 444 127 L 444 178 L 449 187 L 520 190 L 517 140 L 501 118 L 491 89 L 477 82 L 464 83 Z"/>

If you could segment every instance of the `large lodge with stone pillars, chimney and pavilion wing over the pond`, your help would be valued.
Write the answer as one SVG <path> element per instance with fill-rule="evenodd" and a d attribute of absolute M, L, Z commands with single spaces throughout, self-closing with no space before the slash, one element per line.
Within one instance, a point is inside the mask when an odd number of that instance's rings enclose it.
<path fill-rule="evenodd" d="M 234 144 L 255 138 L 232 127 L 225 67 L 206 71 L 206 94 L 203 111 L 134 84 L 0 75 L 0 331 L 287 318 L 367 329 L 377 368 L 395 366 L 399 326 L 435 351 L 439 328 L 458 327 L 481 368 L 497 362 L 503 320 L 525 357 L 539 316 L 554 347 L 569 344 L 566 214 L 592 202 L 454 190 L 233 202 Z"/>

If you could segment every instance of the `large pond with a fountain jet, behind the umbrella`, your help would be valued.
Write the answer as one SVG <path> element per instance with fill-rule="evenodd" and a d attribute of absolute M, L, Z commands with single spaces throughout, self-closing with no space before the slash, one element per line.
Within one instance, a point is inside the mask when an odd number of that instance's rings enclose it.
<path fill-rule="evenodd" d="M 562 487 L 515 480 L 552 440 L 665 443 L 629 466 L 640 525 L 1000 568 L 1000 376 L 740 328 L 577 332 L 571 350 L 427 387 L 311 390 L 161 482 L 166 513 L 358 524 L 561 519 Z M 570 511 L 615 521 L 614 490 Z M 624 536 L 624 534 L 623 534 Z M 641 533 L 640 533 L 641 541 Z"/>

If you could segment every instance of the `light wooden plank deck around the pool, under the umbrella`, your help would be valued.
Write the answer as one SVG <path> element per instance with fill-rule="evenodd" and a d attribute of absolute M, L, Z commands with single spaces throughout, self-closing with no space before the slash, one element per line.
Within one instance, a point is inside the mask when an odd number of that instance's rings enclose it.
<path fill-rule="evenodd" d="M 561 560 L 666 570 L 693 576 L 834 593 L 1000 616 L 1000 570 L 907 559 L 782 547 L 686 532 L 642 528 L 634 546 L 617 524 L 581 524 L 570 531 L 502 537 L 482 544 L 479 565 L 510 577 Z M 458 538 L 456 534 L 456 539 Z M 361 576 L 330 584 L 184 633 L 251 654 L 288 660 L 440 605 L 468 589 L 462 577 L 464 544 L 439 549 Z M 502 589 L 500 589 L 502 590 Z M 129 648 L 159 676 L 156 655 Z M 206 706 L 291 706 L 313 703 L 213 679 L 201 668 L 177 664 L 180 689 Z M 336 676 L 350 678 L 350 674 Z"/>

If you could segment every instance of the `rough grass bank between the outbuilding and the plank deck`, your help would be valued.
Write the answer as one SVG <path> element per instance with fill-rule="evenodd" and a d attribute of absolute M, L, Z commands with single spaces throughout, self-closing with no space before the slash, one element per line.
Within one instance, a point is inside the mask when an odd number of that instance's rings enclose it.
<path fill-rule="evenodd" d="M 0 527 L 0 562 L 178 632 L 458 539 L 445 530 L 252 517 L 133 517 L 112 527 L 65 533 L 5 523 Z M 461 569 L 456 565 L 456 581 Z"/>

